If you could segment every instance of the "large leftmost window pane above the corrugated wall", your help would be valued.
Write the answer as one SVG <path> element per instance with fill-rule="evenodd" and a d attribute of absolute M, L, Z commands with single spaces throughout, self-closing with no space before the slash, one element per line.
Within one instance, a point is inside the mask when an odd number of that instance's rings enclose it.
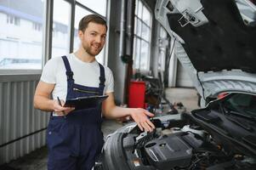
<path fill-rule="evenodd" d="M 0 73 L 42 69 L 43 0 L 0 1 Z M 32 7 L 32 8 L 31 8 Z M 20 73 L 20 71 L 19 71 Z"/>

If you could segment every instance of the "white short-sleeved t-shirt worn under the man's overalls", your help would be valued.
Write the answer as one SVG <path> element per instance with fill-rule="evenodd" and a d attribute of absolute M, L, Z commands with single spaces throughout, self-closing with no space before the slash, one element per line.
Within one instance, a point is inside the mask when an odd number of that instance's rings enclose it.
<path fill-rule="evenodd" d="M 67 59 L 73 71 L 73 79 L 76 84 L 82 86 L 99 88 L 100 83 L 100 66 L 95 60 L 92 63 L 83 62 L 78 59 L 75 54 L 68 54 Z M 105 88 L 104 94 L 114 92 L 114 80 L 111 70 L 105 68 Z M 53 99 L 60 99 L 65 101 L 67 94 L 67 77 L 65 75 L 65 65 L 61 57 L 49 59 L 43 68 L 41 81 L 55 84 L 53 90 Z"/>

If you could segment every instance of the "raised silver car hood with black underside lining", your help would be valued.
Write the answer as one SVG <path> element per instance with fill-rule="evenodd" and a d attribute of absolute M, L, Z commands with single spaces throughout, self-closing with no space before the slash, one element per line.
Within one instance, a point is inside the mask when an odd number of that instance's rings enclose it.
<path fill-rule="evenodd" d="M 256 94 L 256 7 L 249 0 L 158 0 L 156 20 L 202 96 Z M 203 105 L 204 103 L 202 103 Z"/>

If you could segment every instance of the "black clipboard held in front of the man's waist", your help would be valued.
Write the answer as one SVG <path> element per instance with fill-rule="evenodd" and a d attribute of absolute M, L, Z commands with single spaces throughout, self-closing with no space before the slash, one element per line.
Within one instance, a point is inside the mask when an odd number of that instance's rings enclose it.
<path fill-rule="evenodd" d="M 108 95 L 78 97 L 65 101 L 64 107 L 75 107 L 75 110 L 90 109 L 99 106 Z"/>

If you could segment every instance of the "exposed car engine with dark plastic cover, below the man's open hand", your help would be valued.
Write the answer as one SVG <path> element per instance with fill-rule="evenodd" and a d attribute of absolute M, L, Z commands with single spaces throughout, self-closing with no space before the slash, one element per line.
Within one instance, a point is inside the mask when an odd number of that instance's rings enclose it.
<path fill-rule="evenodd" d="M 256 165 L 255 157 L 230 154 L 202 127 L 191 124 L 157 127 L 138 136 L 130 133 L 123 138 L 123 148 L 130 169 L 254 169 Z"/>

